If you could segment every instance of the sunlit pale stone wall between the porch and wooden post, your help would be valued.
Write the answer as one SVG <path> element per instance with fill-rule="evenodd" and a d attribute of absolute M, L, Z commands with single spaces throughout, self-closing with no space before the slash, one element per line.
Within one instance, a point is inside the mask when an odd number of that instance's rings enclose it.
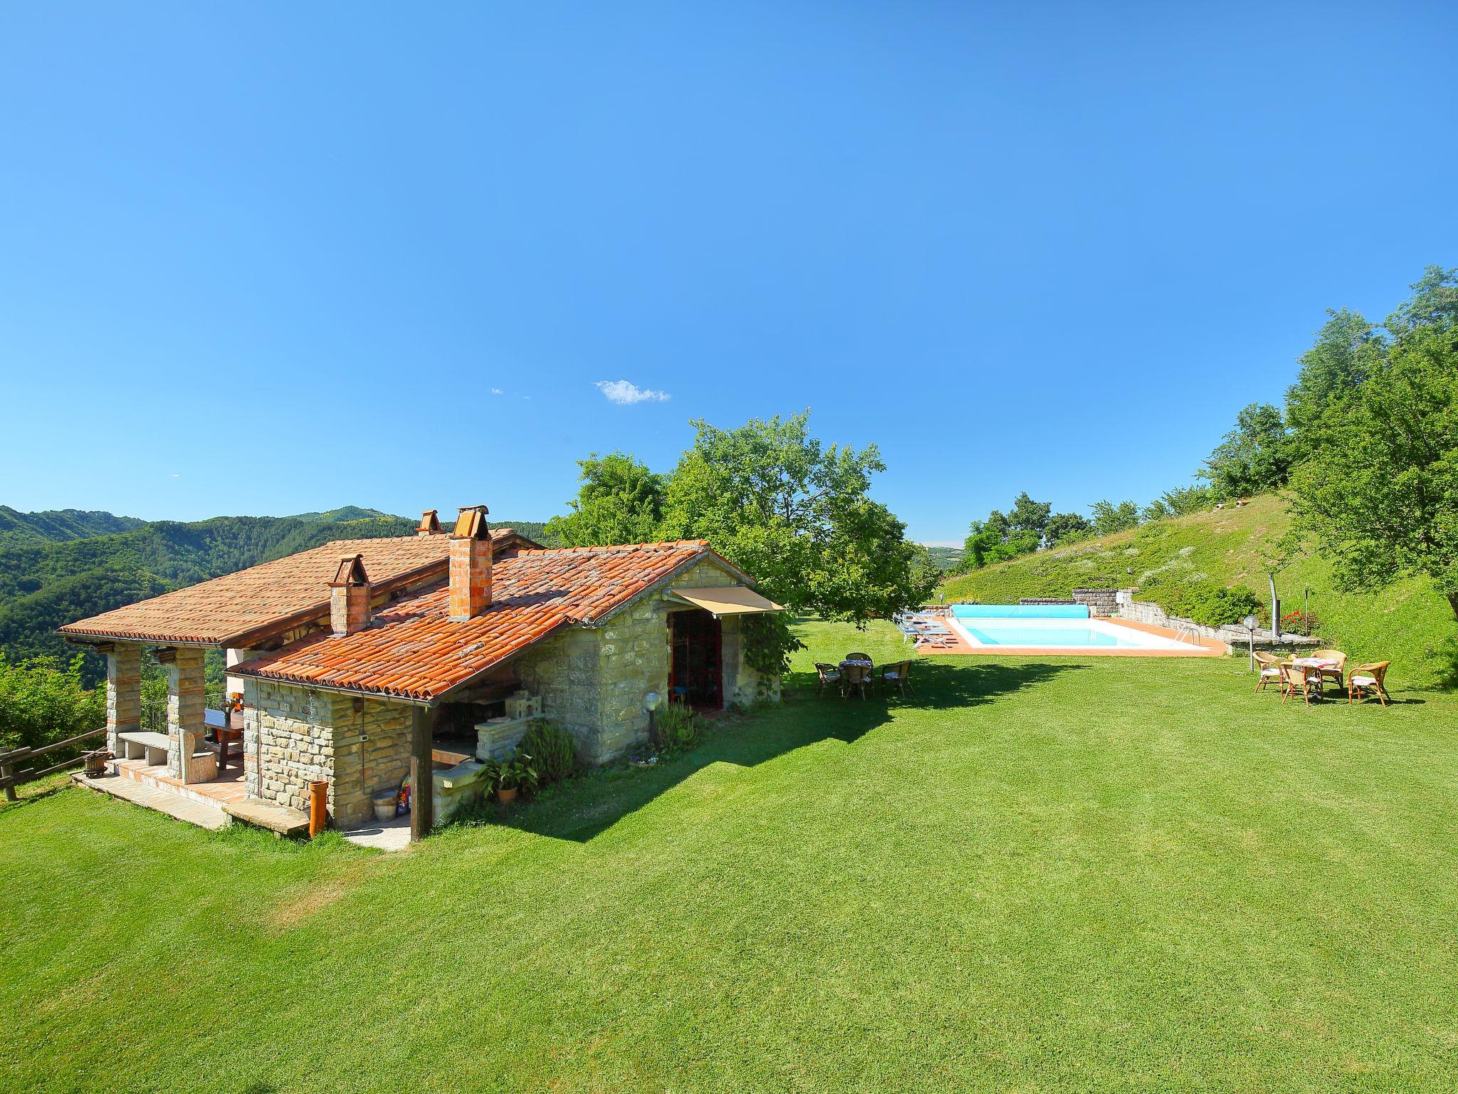
<path fill-rule="evenodd" d="M 372 815 L 370 799 L 410 773 L 414 710 L 332 691 L 243 680 L 243 772 L 248 796 L 309 808 L 309 783 L 330 783 L 334 824 Z"/>

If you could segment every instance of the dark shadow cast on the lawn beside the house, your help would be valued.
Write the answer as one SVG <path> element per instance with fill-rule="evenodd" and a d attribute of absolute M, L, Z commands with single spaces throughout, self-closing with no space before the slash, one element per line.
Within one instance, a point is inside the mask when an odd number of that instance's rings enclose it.
<path fill-rule="evenodd" d="M 684 779 L 713 763 L 752 767 L 818 741 L 854 744 L 884 725 L 897 709 L 942 710 L 977 706 L 1035 687 L 1079 664 L 975 664 L 917 662 L 908 696 L 879 693 L 862 700 L 816 693 L 815 675 L 786 677 L 786 700 L 749 715 L 714 721 L 700 744 L 655 767 L 612 764 L 573 779 L 537 801 L 503 810 L 499 824 L 554 839 L 590 840 L 618 820 L 649 804 Z"/>

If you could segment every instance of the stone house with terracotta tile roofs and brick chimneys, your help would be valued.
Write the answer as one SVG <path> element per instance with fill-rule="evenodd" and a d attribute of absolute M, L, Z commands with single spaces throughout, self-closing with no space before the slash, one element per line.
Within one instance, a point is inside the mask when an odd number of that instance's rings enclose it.
<path fill-rule="evenodd" d="M 262 823 L 297 817 L 322 782 L 348 827 L 407 777 L 414 812 L 434 815 L 538 713 L 601 764 L 646 740 L 647 693 L 700 709 L 779 697 L 742 645 L 744 616 L 779 605 L 707 543 L 547 550 L 486 516 L 467 506 L 445 534 L 427 512 L 413 537 L 325 544 L 61 627 L 106 658 L 112 766 L 226 783 L 225 811 Z M 168 668 L 166 734 L 140 731 L 143 646 Z M 230 723 L 208 722 L 207 648 L 241 699 Z"/>

